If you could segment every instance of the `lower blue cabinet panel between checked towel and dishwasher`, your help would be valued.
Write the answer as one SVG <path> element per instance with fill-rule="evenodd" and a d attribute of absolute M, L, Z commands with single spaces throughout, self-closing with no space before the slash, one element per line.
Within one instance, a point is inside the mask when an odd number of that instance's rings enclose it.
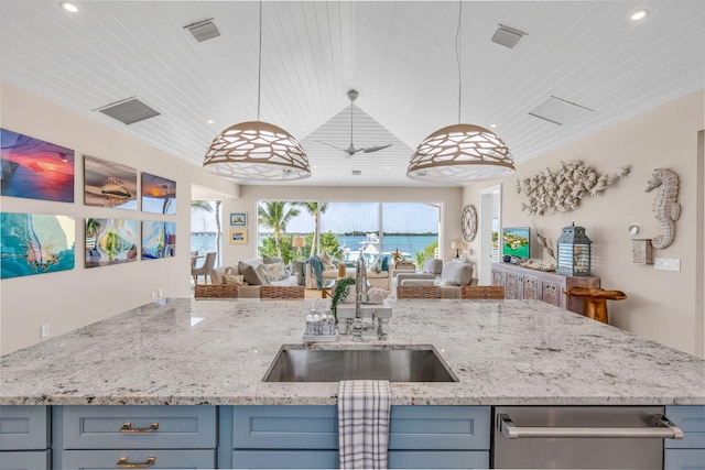
<path fill-rule="evenodd" d="M 390 450 L 390 469 L 487 469 L 489 450 Z"/>

